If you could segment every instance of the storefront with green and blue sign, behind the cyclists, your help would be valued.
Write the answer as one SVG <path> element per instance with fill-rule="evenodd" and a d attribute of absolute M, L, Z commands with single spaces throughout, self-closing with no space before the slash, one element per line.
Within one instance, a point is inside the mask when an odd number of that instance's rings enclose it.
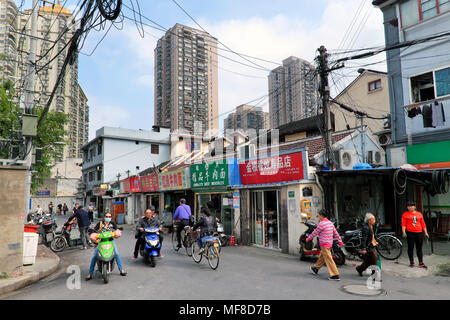
<path fill-rule="evenodd" d="M 191 186 L 195 192 L 195 217 L 200 218 L 202 207 L 220 219 L 224 232 L 236 235 L 239 223 L 239 194 L 235 188 L 240 185 L 237 159 L 218 159 L 191 166 Z"/>

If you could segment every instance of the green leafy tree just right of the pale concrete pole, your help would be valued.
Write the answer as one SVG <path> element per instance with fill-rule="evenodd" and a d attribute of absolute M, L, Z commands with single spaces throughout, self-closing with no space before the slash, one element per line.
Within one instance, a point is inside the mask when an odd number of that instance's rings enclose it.
<path fill-rule="evenodd" d="M 44 108 L 38 108 L 40 117 Z M 69 141 L 64 139 L 67 131 L 64 129 L 69 117 L 65 113 L 49 111 L 38 127 L 37 137 L 33 140 L 36 148 L 42 149 L 41 161 L 33 166 L 33 178 L 31 181 L 31 192 L 41 186 L 51 176 L 51 169 L 56 161 L 62 160 L 64 145 Z"/>

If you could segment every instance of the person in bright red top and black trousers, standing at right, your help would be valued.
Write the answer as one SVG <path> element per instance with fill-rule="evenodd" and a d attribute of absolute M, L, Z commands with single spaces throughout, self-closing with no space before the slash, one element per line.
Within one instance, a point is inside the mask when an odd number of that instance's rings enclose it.
<path fill-rule="evenodd" d="M 402 215 L 403 238 L 408 242 L 409 266 L 414 267 L 414 246 L 416 247 L 417 258 L 419 258 L 419 268 L 428 269 L 423 263 L 423 237 L 430 238 L 427 232 L 427 226 L 423 220 L 422 213 L 417 211 L 416 204 L 413 201 L 408 202 L 408 211 Z"/>

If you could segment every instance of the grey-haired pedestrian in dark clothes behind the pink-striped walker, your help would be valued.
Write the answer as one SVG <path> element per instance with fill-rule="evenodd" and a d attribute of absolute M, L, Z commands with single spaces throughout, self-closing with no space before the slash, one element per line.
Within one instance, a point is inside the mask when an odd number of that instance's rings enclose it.
<path fill-rule="evenodd" d="M 362 277 L 363 272 L 370 266 L 376 265 L 378 261 L 377 251 L 375 247 L 378 242 L 375 241 L 375 233 L 373 226 L 376 219 L 372 213 L 366 213 L 362 228 L 361 254 L 363 254 L 363 263 L 356 267 L 356 271 Z"/>

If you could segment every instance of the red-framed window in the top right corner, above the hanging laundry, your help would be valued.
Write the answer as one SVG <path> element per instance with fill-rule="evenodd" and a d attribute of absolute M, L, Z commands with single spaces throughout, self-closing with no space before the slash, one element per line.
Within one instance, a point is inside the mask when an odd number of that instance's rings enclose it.
<path fill-rule="evenodd" d="M 450 10 L 450 0 L 409 0 L 400 4 L 402 27 L 434 17 Z"/>

